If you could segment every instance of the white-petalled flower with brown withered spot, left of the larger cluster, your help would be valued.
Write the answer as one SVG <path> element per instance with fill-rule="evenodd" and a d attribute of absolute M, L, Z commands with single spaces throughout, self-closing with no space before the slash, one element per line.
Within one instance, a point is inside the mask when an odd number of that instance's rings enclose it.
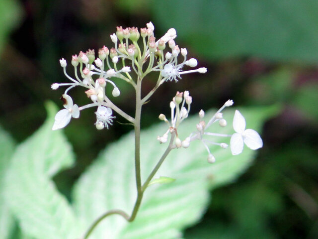
<path fill-rule="evenodd" d="M 59 111 L 55 116 L 55 121 L 52 130 L 64 128 L 71 121 L 71 118 L 79 118 L 79 107 L 73 105 L 73 100 L 68 95 L 62 95 L 64 101 L 63 110 Z"/>

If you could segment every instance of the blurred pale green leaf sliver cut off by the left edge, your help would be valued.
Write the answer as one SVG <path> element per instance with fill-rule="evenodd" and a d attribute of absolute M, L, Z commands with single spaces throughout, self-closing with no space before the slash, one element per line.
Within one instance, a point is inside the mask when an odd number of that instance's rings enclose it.
<path fill-rule="evenodd" d="M 0 127 L 0 235 L 6 239 L 13 230 L 13 217 L 8 204 L 4 200 L 4 175 L 13 153 L 14 141 L 11 136 Z"/>

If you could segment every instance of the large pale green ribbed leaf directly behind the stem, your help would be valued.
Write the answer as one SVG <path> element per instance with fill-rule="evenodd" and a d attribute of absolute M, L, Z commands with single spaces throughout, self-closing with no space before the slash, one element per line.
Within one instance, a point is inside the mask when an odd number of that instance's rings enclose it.
<path fill-rule="evenodd" d="M 260 130 L 264 120 L 278 110 L 278 107 L 268 107 L 240 111 L 248 128 Z M 208 112 L 206 119 L 214 113 Z M 233 115 L 234 111 L 230 110 L 224 113 L 229 125 Z M 197 122 L 198 117 L 182 122 L 183 127 L 178 129 L 180 137 L 184 138 L 195 131 Z M 233 133 L 231 126 L 216 127 L 217 132 Z M 157 135 L 165 131 L 166 125 L 160 124 L 142 132 L 143 180 L 165 150 L 166 145 L 159 144 L 156 139 Z M 221 147 L 211 149 L 216 157 L 214 164 L 207 162 L 207 151 L 200 141 L 191 142 L 187 149 L 172 150 L 156 175 L 168 175 L 176 181 L 148 188 L 134 222 L 128 224 L 120 216 L 109 217 L 100 223 L 89 239 L 180 238 L 183 228 L 201 218 L 209 202 L 208 190 L 233 182 L 252 162 L 256 153 L 245 148 L 242 154 L 232 156 L 230 150 Z M 132 133 L 107 147 L 98 156 L 95 163 L 80 177 L 74 190 L 74 199 L 84 229 L 107 210 L 119 208 L 131 213 L 136 200 Z"/>

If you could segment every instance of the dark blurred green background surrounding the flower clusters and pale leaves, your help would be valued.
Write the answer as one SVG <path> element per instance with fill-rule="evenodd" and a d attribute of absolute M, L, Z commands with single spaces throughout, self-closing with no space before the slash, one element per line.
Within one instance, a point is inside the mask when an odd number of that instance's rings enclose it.
<path fill-rule="evenodd" d="M 264 125 L 254 164 L 234 184 L 213 191 L 204 220 L 185 238 L 317 239 L 317 12 L 316 0 L 0 0 L 0 124 L 17 142 L 31 135 L 46 117 L 45 101 L 62 107 L 63 90 L 50 88 L 66 82 L 59 59 L 111 48 L 116 26 L 152 21 L 157 37 L 174 27 L 176 43 L 208 73 L 164 84 L 144 108 L 143 127 L 159 122 L 177 90 L 190 90 L 193 113 L 228 99 L 236 106 L 281 106 Z M 145 92 L 154 83 L 150 77 Z M 133 113 L 133 90 L 120 89 L 115 102 Z M 89 102 L 80 90 L 72 96 L 80 106 Z M 98 131 L 94 122 L 88 109 L 65 129 L 77 165 L 55 182 L 70 200 L 74 181 L 105 142 L 132 130 L 115 123 Z"/>

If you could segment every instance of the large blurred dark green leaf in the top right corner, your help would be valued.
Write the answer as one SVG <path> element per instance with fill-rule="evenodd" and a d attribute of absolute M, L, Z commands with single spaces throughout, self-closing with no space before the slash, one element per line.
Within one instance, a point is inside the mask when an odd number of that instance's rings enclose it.
<path fill-rule="evenodd" d="M 210 59 L 256 55 L 316 63 L 317 0 L 153 0 L 161 30 Z"/>

